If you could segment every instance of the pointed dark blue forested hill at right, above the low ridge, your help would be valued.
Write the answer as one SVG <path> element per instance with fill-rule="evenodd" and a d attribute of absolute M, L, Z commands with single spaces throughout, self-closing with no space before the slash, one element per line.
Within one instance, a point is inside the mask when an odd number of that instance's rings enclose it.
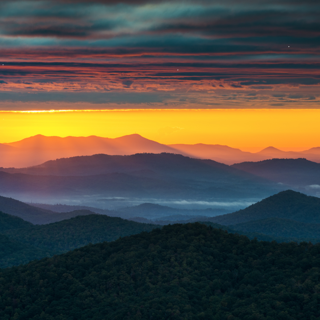
<path fill-rule="evenodd" d="M 320 198 L 286 190 L 233 213 L 213 217 L 212 222 L 234 225 L 251 220 L 283 218 L 320 223 Z"/>

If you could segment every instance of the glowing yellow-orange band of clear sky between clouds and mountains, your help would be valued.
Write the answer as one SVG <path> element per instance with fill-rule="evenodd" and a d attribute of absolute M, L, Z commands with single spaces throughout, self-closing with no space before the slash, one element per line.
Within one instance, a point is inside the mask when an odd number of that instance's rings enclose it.
<path fill-rule="evenodd" d="M 164 144 L 223 144 L 244 151 L 320 146 L 319 109 L 0 111 L 1 141 L 36 134 L 116 138 L 139 133 Z"/>

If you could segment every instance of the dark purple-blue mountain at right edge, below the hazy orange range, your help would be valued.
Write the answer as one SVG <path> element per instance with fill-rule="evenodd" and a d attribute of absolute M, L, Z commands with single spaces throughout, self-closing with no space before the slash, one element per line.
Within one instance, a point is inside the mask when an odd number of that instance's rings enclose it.
<path fill-rule="evenodd" d="M 232 167 L 294 187 L 320 185 L 320 164 L 303 158 L 243 162 Z"/>

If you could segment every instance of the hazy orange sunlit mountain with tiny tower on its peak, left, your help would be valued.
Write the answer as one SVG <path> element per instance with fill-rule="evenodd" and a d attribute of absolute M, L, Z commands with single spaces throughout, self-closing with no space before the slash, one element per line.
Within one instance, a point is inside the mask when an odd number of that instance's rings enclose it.
<path fill-rule="evenodd" d="M 0 154 L 2 155 L 0 165 L 17 168 L 37 165 L 57 158 L 91 156 L 98 153 L 108 155 L 131 155 L 143 152 L 177 153 L 177 150 L 143 138 L 139 134 L 131 134 L 115 139 L 97 136 L 61 138 L 57 136 L 46 137 L 38 134 L 20 141 L 4 143 L 3 145 L 8 150 L 0 148 Z M 20 157 L 16 156 L 17 153 Z"/>

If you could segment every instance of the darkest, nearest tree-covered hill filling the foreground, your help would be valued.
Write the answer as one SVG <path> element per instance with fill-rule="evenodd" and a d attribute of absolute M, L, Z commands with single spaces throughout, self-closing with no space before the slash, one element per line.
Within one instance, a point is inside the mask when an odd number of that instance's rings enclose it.
<path fill-rule="evenodd" d="M 3 319 L 320 317 L 320 245 L 165 226 L 0 271 Z"/>

